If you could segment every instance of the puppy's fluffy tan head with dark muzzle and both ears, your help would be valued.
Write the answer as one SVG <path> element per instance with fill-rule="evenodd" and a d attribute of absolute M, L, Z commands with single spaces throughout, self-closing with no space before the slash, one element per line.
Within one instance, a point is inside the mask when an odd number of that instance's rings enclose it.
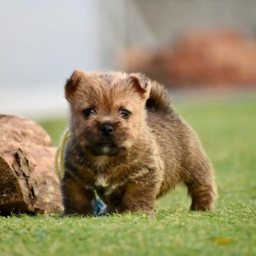
<path fill-rule="evenodd" d="M 75 70 L 65 85 L 71 132 L 93 156 L 124 154 L 143 132 L 149 92 L 138 73 Z"/>

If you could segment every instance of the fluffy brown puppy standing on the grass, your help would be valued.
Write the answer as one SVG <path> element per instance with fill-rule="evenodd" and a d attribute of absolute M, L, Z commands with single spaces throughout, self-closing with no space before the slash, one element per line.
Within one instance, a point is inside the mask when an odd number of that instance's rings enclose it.
<path fill-rule="evenodd" d="M 210 210 L 213 169 L 162 85 L 133 73 L 75 70 L 65 85 L 71 137 L 61 181 L 64 215 L 109 210 L 154 214 L 156 198 L 185 183 L 191 210 Z"/>

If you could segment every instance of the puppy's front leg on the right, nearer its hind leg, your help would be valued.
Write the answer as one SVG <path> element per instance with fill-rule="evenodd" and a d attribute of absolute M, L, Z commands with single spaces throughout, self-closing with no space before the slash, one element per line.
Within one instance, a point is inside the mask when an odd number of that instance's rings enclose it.
<path fill-rule="evenodd" d="M 154 217 L 154 202 L 157 188 L 155 184 L 131 181 L 119 206 L 119 212 L 144 212 Z"/>

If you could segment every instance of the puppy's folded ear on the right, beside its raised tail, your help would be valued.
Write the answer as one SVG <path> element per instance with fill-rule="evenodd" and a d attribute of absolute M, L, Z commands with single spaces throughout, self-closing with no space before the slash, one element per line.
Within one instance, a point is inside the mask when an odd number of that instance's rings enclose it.
<path fill-rule="evenodd" d="M 149 78 L 142 73 L 132 73 L 128 77 L 129 83 L 139 92 L 142 98 L 147 99 L 150 92 Z"/>

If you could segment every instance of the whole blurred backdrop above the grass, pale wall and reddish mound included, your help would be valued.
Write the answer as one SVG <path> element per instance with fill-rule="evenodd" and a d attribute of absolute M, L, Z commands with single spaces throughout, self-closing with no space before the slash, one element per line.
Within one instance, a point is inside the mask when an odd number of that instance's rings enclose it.
<path fill-rule="evenodd" d="M 255 0 L 2 0 L 0 112 L 67 114 L 75 68 L 141 71 L 174 101 L 253 97 Z"/>

